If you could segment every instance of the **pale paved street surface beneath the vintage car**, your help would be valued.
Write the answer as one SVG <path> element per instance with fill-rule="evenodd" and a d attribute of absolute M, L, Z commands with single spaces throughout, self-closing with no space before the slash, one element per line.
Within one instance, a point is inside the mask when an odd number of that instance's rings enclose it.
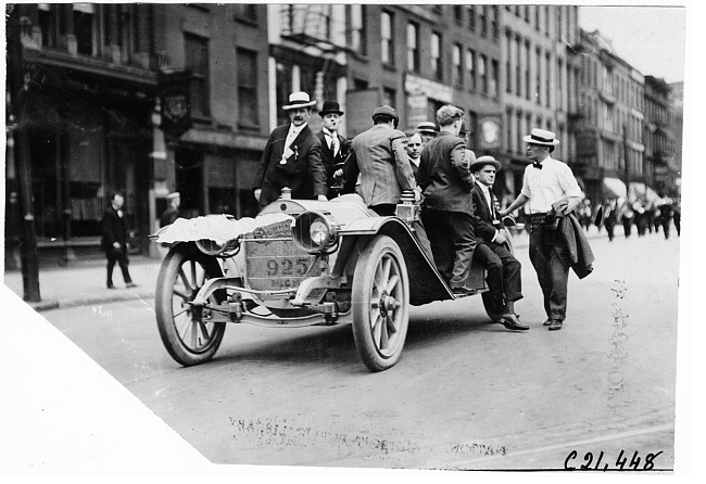
<path fill-rule="evenodd" d="M 230 326 L 216 358 L 181 368 L 149 298 L 42 316 L 217 463 L 563 469 L 591 451 L 675 463 L 679 239 L 592 240 L 562 331 L 541 327 L 527 258 L 527 333 L 489 324 L 480 297 L 414 308 L 401 361 L 369 373 L 348 326 Z M 569 459 L 576 450 L 576 458 Z M 658 454 L 656 457 L 654 455 Z M 595 463 L 595 462 L 594 462 Z"/>

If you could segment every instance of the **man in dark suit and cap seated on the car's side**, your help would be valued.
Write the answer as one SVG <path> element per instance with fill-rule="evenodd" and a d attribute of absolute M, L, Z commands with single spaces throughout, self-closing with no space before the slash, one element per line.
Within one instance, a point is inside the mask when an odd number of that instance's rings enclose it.
<path fill-rule="evenodd" d="M 522 297 L 522 281 L 519 260 L 508 250 L 504 227 L 497 216 L 497 200 L 492 187 L 501 164 L 492 156 L 480 156 L 470 164 L 476 183 L 470 191 L 474 199 L 474 229 L 476 252 L 474 260 L 486 268 L 486 282 L 493 298 L 493 306 L 503 308 L 493 320 L 510 330 L 528 330 L 520 324 L 515 314 L 515 301 Z"/>

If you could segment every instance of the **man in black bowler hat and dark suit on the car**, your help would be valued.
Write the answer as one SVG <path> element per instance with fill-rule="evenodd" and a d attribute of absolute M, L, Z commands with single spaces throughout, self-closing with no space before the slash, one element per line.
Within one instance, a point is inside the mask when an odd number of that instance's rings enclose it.
<path fill-rule="evenodd" d="M 324 120 L 324 127 L 316 137 L 322 143 L 322 162 L 326 168 L 329 199 L 340 193 L 343 177 L 343 162 L 348 156 L 348 141 L 338 132 L 343 112 L 336 101 L 325 101 L 324 107 L 318 113 Z M 338 171 L 338 177 L 335 176 Z"/>

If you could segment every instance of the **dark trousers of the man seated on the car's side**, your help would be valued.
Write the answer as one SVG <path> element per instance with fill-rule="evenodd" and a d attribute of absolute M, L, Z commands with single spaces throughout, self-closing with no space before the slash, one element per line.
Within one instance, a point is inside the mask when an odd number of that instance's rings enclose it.
<path fill-rule="evenodd" d="M 486 268 L 486 282 L 496 305 L 522 298 L 522 266 L 505 245 L 477 244 L 474 260 Z"/>

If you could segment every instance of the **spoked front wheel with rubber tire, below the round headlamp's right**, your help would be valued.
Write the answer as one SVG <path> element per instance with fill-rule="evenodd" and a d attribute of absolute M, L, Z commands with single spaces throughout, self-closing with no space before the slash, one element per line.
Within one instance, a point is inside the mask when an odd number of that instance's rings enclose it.
<path fill-rule="evenodd" d="M 388 276 L 384 281 L 376 281 L 378 270 L 383 269 L 386 264 L 390 264 Z M 387 316 L 383 316 L 379 310 L 381 298 L 377 297 L 382 294 L 380 289 L 383 285 L 390 290 L 389 276 L 398 279 L 391 292 L 398 304 L 392 310 L 386 309 Z M 409 280 L 400 246 L 387 235 L 371 239 L 357 260 L 353 277 L 352 311 L 355 347 L 365 366 L 371 371 L 382 371 L 394 366 L 402 355 L 409 326 Z M 384 327 L 378 324 L 380 333 L 375 335 L 375 322 L 381 322 L 382 319 L 379 318 L 382 317 L 389 322 Z M 392 336 L 389 335 L 391 328 L 395 330 Z M 387 348 L 382 347 L 383 335 L 389 337 Z"/>

